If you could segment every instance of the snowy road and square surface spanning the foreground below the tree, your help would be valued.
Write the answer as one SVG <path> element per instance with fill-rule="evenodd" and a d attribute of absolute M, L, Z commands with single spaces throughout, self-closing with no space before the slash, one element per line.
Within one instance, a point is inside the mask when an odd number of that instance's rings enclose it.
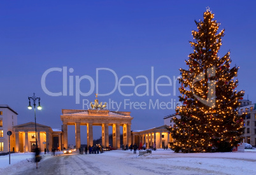
<path fill-rule="evenodd" d="M 256 174 L 255 155 L 256 153 L 183 154 L 164 150 L 143 156 L 122 150 L 96 155 L 43 155 L 38 169 L 31 158 L 4 169 L 1 174 Z"/>

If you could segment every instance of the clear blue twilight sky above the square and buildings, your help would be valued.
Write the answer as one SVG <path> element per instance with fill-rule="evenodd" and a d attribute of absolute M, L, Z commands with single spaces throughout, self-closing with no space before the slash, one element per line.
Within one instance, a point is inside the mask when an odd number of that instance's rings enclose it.
<path fill-rule="evenodd" d="M 245 90 L 245 99 L 248 95 L 255 102 L 255 5 L 254 1 L 1 1 L 0 104 L 17 111 L 18 124 L 34 122 L 27 97 L 35 92 L 43 107 L 36 112 L 37 122 L 60 128 L 61 109 L 87 109 L 83 102 L 94 101 L 98 87 L 99 94 L 110 94 L 99 96 L 99 101 L 121 103 L 120 111 L 131 111 L 132 129 L 163 125 L 162 118 L 174 113 L 178 101 L 180 85 L 174 79 L 180 67 L 187 68 L 184 60 L 192 52 L 188 41 L 196 29 L 194 20 L 203 18 L 207 6 L 220 29 L 225 29 L 218 56 L 231 51 L 232 66 L 240 67 L 238 90 Z M 47 70 L 52 72 L 46 74 Z M 171 81 L 172 86 L 155 88 L 158 78 L 159 84 Z M 118 90 L 119 84 L 132 81 L 134 85 Z M 85 94 L 79 95 L 80 91 Z M 117 110 L 115 105 L 109 107 Z M 75 143 L 75 127 L 69 130 L 69 143 Z M 96 139 L 100 128 L 94 130 Z"/>

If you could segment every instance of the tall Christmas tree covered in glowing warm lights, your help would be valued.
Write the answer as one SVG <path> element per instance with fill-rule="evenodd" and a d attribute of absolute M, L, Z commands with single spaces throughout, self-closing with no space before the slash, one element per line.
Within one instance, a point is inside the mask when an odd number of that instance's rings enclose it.
<path fill-rule="evenodd" d="M 171 148 L 178 152 L 231 151 L 241 141 L 243 116 L 238 116 L 239 99 L 244 91 L 237 92 L 238 68 L 231 68 L 230 52 L 218 57 L 224 29 L 213 20 L 209 8 L 204 19 L 196 22 L 190 41 L 194 52 L 185 62 L 188 69 L 180 69 L 181 106 L 176 108 L 180 118 L 173 118 L 169 129 L 174 142 Z"/>

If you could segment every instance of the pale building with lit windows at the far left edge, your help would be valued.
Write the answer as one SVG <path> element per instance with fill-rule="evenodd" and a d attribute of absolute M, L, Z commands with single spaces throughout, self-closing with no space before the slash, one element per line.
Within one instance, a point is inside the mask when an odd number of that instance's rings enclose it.
<path fill-rule="evenodd" d="M 6 153 L 9 151 L 9 140 L 7 132 L 12 132 L 10 136 L 10 151 L 15 151 L 15 134 L 13 132 L 13 126 L 17 125 L 17 115 L 10 106 L 6 104 L 0 105 L 0 153 Z"/>

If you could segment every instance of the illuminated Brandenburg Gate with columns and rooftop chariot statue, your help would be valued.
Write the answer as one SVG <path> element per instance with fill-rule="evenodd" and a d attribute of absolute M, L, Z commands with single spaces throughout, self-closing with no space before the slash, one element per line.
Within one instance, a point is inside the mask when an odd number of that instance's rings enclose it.
<path fill-rule="evenodd" d="M 102 145 L 103 147 L 109 146 L 109 134 L 108 127 L 112 127 L 113 134 L 113 148 L 120 148 L 120 126 L 123 129 L 123 144 L 131 145 L 131 112 L 122 111 L 109 111 L 106 108 L 106 103 L 103 105 L 102 102 L 99 104 L 96 100 L 94 104 L 91 102 L 91 108 L 88 110 L 84 109 L 62 109 L 62 115 L 60 115 L 60 120 L 62 120 L 62 130 L 63 130 L 63 146 L 68 148 L 68 125 L 75 125 L 75 137 L 76 137 L 76 148 L 81 146 L 81 132 L 80 126 L 87 126 L 87 146 L 93 146 L 93 132 L 92 126 L 101 126 L 102 130 Z"/>

